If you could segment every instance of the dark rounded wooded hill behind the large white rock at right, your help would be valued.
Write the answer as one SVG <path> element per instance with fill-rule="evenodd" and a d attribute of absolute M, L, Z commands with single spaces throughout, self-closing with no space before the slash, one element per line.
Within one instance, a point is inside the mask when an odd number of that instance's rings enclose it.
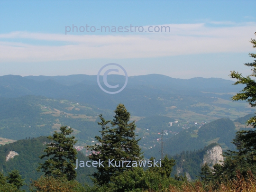
<path fill-rule="evenodd" d="M 231 142 L 237 132 L 235 129 L 234 122 L 225 118 L 214 120 L 202 125 L 201 128 L 192 127 L 184 129 L 163 141 L 164 154 L 175 155 L 182 151 L 198 150 L 211 143 L 219 143 L 224 150 L 234 149 Z M 147 158 L 151 156 L 160 158 L 160 151 L 161 145 L 159 143 L 154 148 L 147 150 L 145 156 Z"/>

